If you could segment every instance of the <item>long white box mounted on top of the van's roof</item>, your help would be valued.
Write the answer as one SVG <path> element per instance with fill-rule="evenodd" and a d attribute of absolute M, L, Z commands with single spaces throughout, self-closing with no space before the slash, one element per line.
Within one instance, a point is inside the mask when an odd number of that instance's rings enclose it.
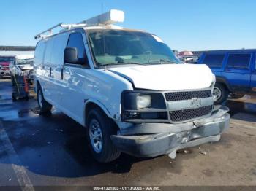
<path fill-rule="evenodd" d="M 117 9 L 110 9 L 109 12 L 105 12 L 96 17 L 83 20 L 80 23 L 86 23 L 87 25 L 95 25 L 95 24 L 111 25 L 113 23 L 122 23 L 122 22 L 124 22 L 124 12 Z"/>

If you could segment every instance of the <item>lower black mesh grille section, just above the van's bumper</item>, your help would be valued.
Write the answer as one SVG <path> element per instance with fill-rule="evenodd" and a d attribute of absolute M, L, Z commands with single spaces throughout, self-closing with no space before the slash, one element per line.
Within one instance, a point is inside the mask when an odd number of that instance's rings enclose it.
<path fill-rule="evenodd" d="M 211 109 L 212 109 L 212 106 L 203 106 L 196 109 L 184 109 L 184 110 L 169 112 L 170 120 L 173 122 L 192 120 L 198 117 L 202 117 L 206 114 L 209 114 L 211 112 Z"/>

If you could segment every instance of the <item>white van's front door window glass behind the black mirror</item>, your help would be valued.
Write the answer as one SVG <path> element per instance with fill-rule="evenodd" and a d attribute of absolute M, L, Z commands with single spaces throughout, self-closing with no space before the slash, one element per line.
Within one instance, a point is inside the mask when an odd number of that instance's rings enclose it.
<path fill-rule="evenodd" d="M 67 47 L 76 47 L 78 50 L 78 59 L 83 61 L 83 63 L 85 63 L 86 65 L 88 65 L 88 60 L 86 58 L 86 50 L 83 44 L 82 34 L 80 33 L 70 34 Z"/>

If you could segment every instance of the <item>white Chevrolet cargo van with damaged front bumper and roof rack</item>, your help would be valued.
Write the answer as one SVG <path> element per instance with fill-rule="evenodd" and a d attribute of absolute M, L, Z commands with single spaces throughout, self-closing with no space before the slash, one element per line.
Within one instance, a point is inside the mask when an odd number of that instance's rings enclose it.
<path fill-rule="evenodd" d="M 124 12 L 112 9 L 35 36 L 42 38 L 34 54 L 40 111 L 55 106 L 86 127 L 102 163 L 121 152 L 174 158 L 177 149 L 219 141 L 230 115 L 214 106 L 208 66 L 181 63 L 154 34 L 112 25 L 122 20 Z"/>

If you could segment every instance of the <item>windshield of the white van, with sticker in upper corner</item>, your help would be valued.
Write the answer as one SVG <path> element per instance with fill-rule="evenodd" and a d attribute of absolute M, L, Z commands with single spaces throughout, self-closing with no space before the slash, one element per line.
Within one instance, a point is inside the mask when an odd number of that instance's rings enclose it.
<path fill-rule="evenodd" d="M 158 36 L 140 31 L 89 30 L 97 66 L 181 63 Z"/>

